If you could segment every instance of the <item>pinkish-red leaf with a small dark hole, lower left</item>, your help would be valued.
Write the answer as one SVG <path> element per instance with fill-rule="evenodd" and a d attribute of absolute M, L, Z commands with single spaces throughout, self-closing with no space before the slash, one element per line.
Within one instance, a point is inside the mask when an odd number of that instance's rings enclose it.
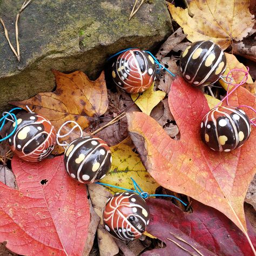
<path fill-rule="evenodd" d="M 90 222 L 86 188 L 70 179 L 63 156 L 12 159 L 19 190 L 0 183 L 0 242 L 22 255 L 79 255 Z"/>

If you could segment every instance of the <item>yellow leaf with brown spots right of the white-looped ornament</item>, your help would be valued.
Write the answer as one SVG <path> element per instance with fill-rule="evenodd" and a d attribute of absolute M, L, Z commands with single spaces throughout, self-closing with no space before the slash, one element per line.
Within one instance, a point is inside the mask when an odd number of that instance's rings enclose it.
<path fill-rule="evenodd" d="M 131 139 L 128 137 L 110 149 L 113 159 L 111 170 L 100 182 L 134 190 L 132 177 L 143 191 L 154 194 L 159 185 L 146 171 L 138 154 L 133 152 L 134 145 Z M 118 188 L 106 188 L 111 193 L 120 191 Z"/>

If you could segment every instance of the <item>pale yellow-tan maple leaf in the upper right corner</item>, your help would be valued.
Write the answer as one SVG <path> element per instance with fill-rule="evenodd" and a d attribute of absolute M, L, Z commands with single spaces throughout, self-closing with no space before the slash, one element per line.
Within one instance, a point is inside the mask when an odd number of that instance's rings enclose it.
<path fill-rule="evenodd" d="M 174 20 L 183 28 L 191 42 L 212 40 L 226 49 L 232 40 L 241 41 L 252 30 L 254 16 L 249 11 L 250 0 L 192 0 L 187 9 L 169 3 Z"/>

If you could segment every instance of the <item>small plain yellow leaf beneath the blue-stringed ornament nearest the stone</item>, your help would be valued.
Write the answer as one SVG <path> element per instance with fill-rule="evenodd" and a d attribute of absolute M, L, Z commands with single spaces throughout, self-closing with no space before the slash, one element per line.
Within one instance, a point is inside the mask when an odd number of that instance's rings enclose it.
<path fill-rule="evenodd" d="M 143 92 L 142 95 L 131 95 L 133 102 L 140 108 L 143 113 L 150 114 L 152 109 L 165 97 L 163 91 L 154 91 L 154 83 Z"/>

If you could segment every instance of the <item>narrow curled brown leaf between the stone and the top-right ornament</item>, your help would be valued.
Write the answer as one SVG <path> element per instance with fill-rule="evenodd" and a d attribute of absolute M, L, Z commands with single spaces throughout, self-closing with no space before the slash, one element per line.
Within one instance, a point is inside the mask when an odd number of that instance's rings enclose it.
<path fill-rule="evenodd" d="M 183 41 L 183 39 L 185 39 L 186 36 L 187 35 L 183 33 L 182 29 L 178 28 L 160 46 L 159 51 L 156 54 L 156 58 L 159 60 L 164 58 L 173 48 L 175 48 L 181 41 Z"/>

